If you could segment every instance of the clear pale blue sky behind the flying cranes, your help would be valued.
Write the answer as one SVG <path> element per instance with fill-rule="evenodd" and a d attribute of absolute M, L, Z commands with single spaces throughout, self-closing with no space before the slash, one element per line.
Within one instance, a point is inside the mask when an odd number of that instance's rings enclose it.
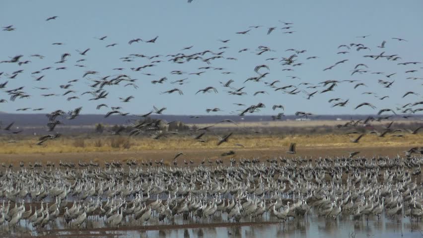
<path fill-rule="evenodd" d="M 110 109 L 96 110 L 96 106 L 105 103 L 112 106 L 123 107 L 122 112 L 131 114 L 144 114 L 152 110 L 153 105 L 157 108 L 167 107 L 164 114 L 207 114 L 207 108 L 220 108 L 222 112 L 214 114 L 239 113 L 238 107 L 233 103 L 243 103 L 247 106 L 264 103 L 265 109 L 257 114 L 270 115 L 274 112 L 272 105 L 282 104 L 285 106 L 285 114 L 294 114 L 296 111 L 310 112 L 313 114 L 372 114 L 379 109 L 395 109 L 409 102 L 422 101 L 422 95 L 409 95 L 401 98 L 407 91 L 422 94 L 423 80 L 411 80 L 407 77 L 423 77 L 423 64 L 397 65 L 399 62 L 419 61 L 423 62 L 423 33 L 420 25 L 423 22 L 422 1 L 281 1 L 281 0 L 194 0 L 187 3 L 186 0 L 134 0 L 125 2 L 112 1 L 3 1 L 0 9 L 0 26 L 13 25 L 14 31 L 0 31 L 0 61 L 9 60 L 8 57 L 23 55 L 22 61 L 30 60 L 28 64 L 19 66 L 16 63 L 1 63 L 0 84 L 8 81 L 6 88 L 1 91 L 0 99 L 8 100 L 8 103 L 0 103 L 0 111 L 15 113 L 19 108 L 44 108 L 41 113 L 62 109 L 72 110 L 82 106 L 82 114 L 105 114 Z M 46 21 L 51 16 L 58 16 L 56 20 Z M 282 30 L 285 27 L 282 22 L 292 22 L 291 29 Z M 262 25 L 263 27 L 251 29 L 249 26 Z M 277 27 L 270 35 L 267 35 L 268 27 Z M 251 29 L 249 34 L 239 35 L 235 32 Z M 295 31 L 293 34 L 284 34 L 285 31 Z M 370 35 L 366 38 L 357 36 Z M 104 41 L 96 38 L 107 36 Z M 158 36 L 156 43 L 134 43 L 129 45 L 132 39 L 141 38 L 144 41 Z M 408 40 L 399 42 L 391 38 L 398 37 Z M 230 39 L 228 43 L 218 41 Z M 386 40 L 385 49 L 377 46 Z M 64 45 L 55 46 L 52 43 L 61 42 Z M 108 44 L 117 43 L 115 47 L 106 48 Z M 337 49 L 339 45 L 361 43 L 370 48 L 369 50 L 356 51 Z M 184 47 L 193 46 L 191 50 L 181 51 Z M 228 49 L 218 48 L 227 46 Z M 267 46 L 273 52 L 266 52 L 258 56 L 256 49 L 259 46 Z M 75 50 L 83 51 L 90 48 L 86 56 L 80 56 Z M 246 52 L 238 53 L 239 50 L 248 48 Z M 303 63 L 301 66 L 282 66 L 279 60 L 289 57 L 292 52 L 287 49 L 306 50 L 299 54 L 295 63 Z M 233 57 L 237 60 L 217 59 L 207 64 L 201 60 L 191 60 L 183 64 L 172 63 L 165 57 L 169 54 L 194 54 L 205 50 L 214 53 L 224 51 L 225 58 Z M 340 51 L 349 51 L 349 54 L 337 54 Z M 363 58 L 364 55 L 398 55 L 402 59 L 373 60 Z M 56 64 L 61 55 L 70 53 L 65 63 Z M 30 57 L 33 54 L 45 56 L 44 59 Z M 162 60 L 155 67 L 143 69 L 139 72 L 132 71 L 131 67 L 149 64 L 152 60 L 137 58 L 132 62 L 123 62 L 119 58 L 129 54 L 143 54 L 146 56 L 163 55 Z M 206 55 L 205 58 L 212 55 Z M 306 60 L 307 57 L 317 56 L 318 59 Z M 278 58 L 278 60 L 266 60 Z M 76 60 L 86 65 L 84 68 L 76 67 Z M 340 63 L 332 70 L 323 71 L 324 68 L 348 59 L 346 63 Z M 351 72 L 358 63 L 365 63 L 369 68 L 368 73 L 354 74 Z M 248 77 L 257 76 L 254 67 L 259 64 L 267 64 L 269 74 L 261 82 L 246 82 Z M 45 75 L 41 81 L 34 81 L 31 72 L 41 68 L 52 66 L 53 69 L 45 70 L 37 76 Z M 67 70 L 55 70 L 55 67 L 66 66 Z M 199 72 L 199 67 L 212 66 L 222 67 L 223 71 L 232 74 L 221 74 L 219 70 L 207 70 L 201 76 L 189 75 L 188 73 Z M 112 70 L 122 67 L 123 71 Z M 282 71 L 291 68 L 294 71 Z M 9 79 L 13 71 L 24 71 L 15 79 Z M 414 73 L 405 73 L 407 70 L 419 70 Z M 98 75 L 83 78 L 86 70 L 100 72 Z M 172 70 L 186 72 L 184 75 L 170 74 Z M 391 78 L 370 72 L 383 71 L 386 74 L 396 72 Z M 260 72 L 267 72 L 261 69 Z M 89 95 L 81 93 L 90 91 L 89 79 L 98 79 L 101 76 L 125 73 L 136 81 L 138 89 L 131 86 L 124 87 L 126 83 L 116 86 L 108 86 L 105 89 L 109 96 L 105 100 L 88 101 Z M 142 73 L 154 74 L 154 76 Z M 287 76 L 297 76 L 301 79 L 291 79 Z M 168 81 L 163 84 L 153 85 L 152 80 L 167 77 Z M 171 81 L 188 78 L 184 85 L 171 84 Z M 67 96 L 42 97 L 41 94 L 56 93 L 62 95 L 66 89 L 59 86 L 67 84 L 69 80 L 78 79 L 72 83 L 76 94 Z M 240 88 L 245 86 L 247 95 L 228 95 L 219 81 L 226 82 L 233 79 L 232 86 Z M 335 91 L 324 94 L 317 93 L 311 100 L 306 100 L 304 93 L 289 95 L 266 86 L 264 82 L 280 80 L 276 85 L 298 85 L 307 82 L 318 85 L 325 80 L 360 80 L 367 87 L 353 89 L 356 83 L 343 82 L 338 84 Z M 378 80 L 395 80 L 392 87 L 384 88 Z M 29 99 L 9 100 L 4 90 L 25 86 L 24 90 L 31 95 Z M 214 86 L 218 93 L 195 93 L 207 86 Z M 34 87 L 50 87 L 50 90 L 41 91 Z M 174 87 L 180 88 L 184 95 L 160 93 Z M 321 91 L 324 88 L 307 89 L 299 86 L 299 90 L 309 93 Z M 266 91 L 269 94 L 253 96 L 254 92 Z M 373 95 L 363 95 L 363 92 L 375 92 L 378 97 L 389 98 L 379 100 Z M 135 98 L 129 103 L 122 103 L 119 97 L 133 95 Z M 68 96 L 78 96 L 79 99 L 67 101 Z M 328 100 L 331 98 L 349 99 L 349 104 L 344 108 L 331 108 Z M 377 107 L 372 110 L 362 107 L 354 110 L 354 107 L 362 102 L 370 102 Z M 282 111 L 281 111 L 282 112 Z M 26 113 L 32 113 L 27 111 Z"/>

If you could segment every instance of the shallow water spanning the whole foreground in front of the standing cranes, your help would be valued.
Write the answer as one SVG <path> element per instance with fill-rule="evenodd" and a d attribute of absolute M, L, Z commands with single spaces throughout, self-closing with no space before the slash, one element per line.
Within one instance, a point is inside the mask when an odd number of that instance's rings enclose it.
<path fill-rule="evenodd" d="M 275 221 L 274 218 L 269 219 Z M 217 221 L 221 223 L 220 218 Z M 248 222 L 248 221 L 244 221 Z M 178 221 L 182 224 L 182 221 Z M 201 224 L 201 228 L 183 228 L 183 229 L 165 229 L 154 227 L 158 224 L 154 220 L 151 221 L 148 229 L 146 227 L 131 226 L 131 229 L 122 227 L 123 230 L 107 230 L 98 229 L 101 227 L 101 221 L 92 221 L 90 228 L 81 231 L 64 230 L 60 231 L 61 225 L 53 227 L 59 229 L 54 231 L 39 231 L 31 232 L 29 228 L 25 228 L 22 224 L 18 230 L 13 232 L 15 235 L 7 233 L 3 230 L 0 237 L 20 237 L 22 234 L 26 236 L 36 235 L 50 237 L 83 237 L 83 238 L 271 238 L 271 237 L 287 237 L 287 238 L 417 238 L 423 237 L 422 222 L 416 223 L 414 220 L 410 222 L 408 218 L 401 220 L 387 220 L 384 217 L 378 221 L 370 219 L 368 222 L 365 219 L 361 221 L 352 221 L 347 217 L 338 218 L 337 220 L 326 220 L 324 218 L 317 218 L 309 216 L 308 218 L 297 218 L 291 220 L 285 225 L 269 224 L 257 222 L 252 226 L 224 226 L 213 227 L 213 224 Z M 189 227 L 189 223 L 187 227 Z M 215 224 L 219 226 L 219 224 Z M 184 225 L 181 225 L 184 226 Z M 221 225 L 220 225 L 221 226 Z M 62 227 L 63 229 L 63 227 Z M 24 235 L 24 237 L 25 237 Z"/>

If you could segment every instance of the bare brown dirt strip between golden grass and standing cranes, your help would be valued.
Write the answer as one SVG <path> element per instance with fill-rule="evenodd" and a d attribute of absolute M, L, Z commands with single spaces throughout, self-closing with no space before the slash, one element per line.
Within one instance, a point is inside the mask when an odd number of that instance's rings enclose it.
<path fill-rule="evenodd" d="M 47 163 L 48 161 L 54 162 L 56 164 L 59 161 L 78 163 L 81 162 L 98 162 L 100 165 L 103 165 L 104 161 L 121 161 L 125 162 L 127 160 L 135 160 L 137 162 L 141 161 L 159 161 L 164 160 L 166 165 L 171 165 L 173 157 L 178 152 L 184 153 L 184 156 L 178 158 L 178 165 L 183 166 L 183 160 L 190 159 L 194 161 L 193 166 L 197 166 L 203 159 L 210 158 L 211 161 L 214 161 L 217 158 L 223 158 L 225 163 L 229 163 L 230 157 L 222 157 L 221 153 L 228 150 L 234 150 L 236 154 L 232 156 L 235 159 L 242 158 L 260 158 L 264 161 L 267 158 L 279 158 L 287 157 L 291 158 L 294 156 L 307 156 L 307 158 L 316 159 L 318 157 L 324 156 L 342 156 L 348 155 L 352 151 L 360 151 L 360 155 L 365 156 L 395 156 L 397 154 L 403 154 L 404 150 L 409 149 L 411 146 L 417 145 L 413 144 L 380 144 L 378 146 L 365 146 L 362 144 L 338 144 L 336 146 L 322 145 L 313 146 L 307 145 L 302 146 L 297 145 L 297 154 L 290 155 L 286 154 L 287 146 L 282 147 L 254 147 L 254 148 L 184 148 L 184 149 L 149 149 L 149 150 L 120 150 L 120 151 L 100 151 L 100 152 L 49 152 L 49 153 L 14 153 L 14 154 L 1 154 L 0 162 L 5 164 L 13 164 L 14 167 L 18 166 L 20 161 L 25 163 L 35 163 L 42 162 Z M 206 162 L 207 164 L 207 162 Z M 154 163 L 153 163 L 154 165 Z M 214 165 L 214 163 L 213 163 Z"/>

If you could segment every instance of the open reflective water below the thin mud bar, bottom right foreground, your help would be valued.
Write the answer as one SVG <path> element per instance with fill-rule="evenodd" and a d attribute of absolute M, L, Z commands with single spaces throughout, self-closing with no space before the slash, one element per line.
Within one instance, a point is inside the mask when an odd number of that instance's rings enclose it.
<path fill-rule="evenodd" d="M 289 225 L 257 225 L 246 227 L 224 227 L 224 228 L 201 228 L 201 229 L 179 229 L 169 231 L 130 231 L 126 234 L 120 233 L 121 237 L 138 238 L 197 238 L 197 237 L 219 237 L 219 238 L 398 238 L 398 237 L 422 237 L 418 230 L 411 230 L 410 223 L 389 224 L 383 222 L 369 221 L 367 224 L 349 221 L 325 222 L 325 221 L 294 221 Z M 421 226 L 414 229 L 422 229 Z"/>

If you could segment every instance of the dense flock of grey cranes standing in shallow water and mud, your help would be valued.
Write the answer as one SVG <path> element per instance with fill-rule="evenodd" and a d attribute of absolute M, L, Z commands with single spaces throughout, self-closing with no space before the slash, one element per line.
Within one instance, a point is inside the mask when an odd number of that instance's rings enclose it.
<path fill-rule="evenodd" d="M 66 162 L 0 173 L 0 225 L 43 229 L 423 216 L 422 156 Z M 41 205 L 40 205 L 41 202 Z M 25 203 L 29 203 L 25 205 Z M 282 224 L 281 224 L 282 225 Z"/>

